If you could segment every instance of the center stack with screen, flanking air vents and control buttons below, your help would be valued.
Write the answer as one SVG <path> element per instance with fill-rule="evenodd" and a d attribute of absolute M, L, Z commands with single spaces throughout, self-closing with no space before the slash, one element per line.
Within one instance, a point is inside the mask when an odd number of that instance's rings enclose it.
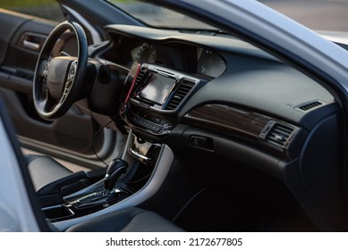
<path fill-rule="evenodd" d="M 157 65 L 133 63 L 121 96 L 123 120 L 132 129 L 166 135 L 175 126 L 175 114 L 202 81 Z"/>

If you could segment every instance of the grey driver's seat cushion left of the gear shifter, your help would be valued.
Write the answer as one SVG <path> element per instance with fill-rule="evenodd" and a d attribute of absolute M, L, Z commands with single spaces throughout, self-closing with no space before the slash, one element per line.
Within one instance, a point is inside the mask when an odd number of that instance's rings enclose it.
<path fill-rule="evenodd" d="M 28 154 L 26 158 L 29 163 L 28 168 L 36 191 L 57 179 L 62 179 L 72 174 L 72 171 L 49 156 Z"/>

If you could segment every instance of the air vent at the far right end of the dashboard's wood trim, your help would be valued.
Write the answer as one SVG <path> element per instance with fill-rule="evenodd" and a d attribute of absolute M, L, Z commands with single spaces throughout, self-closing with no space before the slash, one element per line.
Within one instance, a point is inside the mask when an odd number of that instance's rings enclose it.
<path fill-rule="evenodd" d="M 271 123 L 273 124 L 268 123 L 266 127 L 269 131 L 267 132 L 264 130 L 263 132 L 266 132 L 265 141 L 271 145 L 285 148 L 288 145 L 291 137 L 293 136 L 295 128 L 276 121 L 271 121 Z M 269 127 L 271 128 L 269 129 Z"/>

